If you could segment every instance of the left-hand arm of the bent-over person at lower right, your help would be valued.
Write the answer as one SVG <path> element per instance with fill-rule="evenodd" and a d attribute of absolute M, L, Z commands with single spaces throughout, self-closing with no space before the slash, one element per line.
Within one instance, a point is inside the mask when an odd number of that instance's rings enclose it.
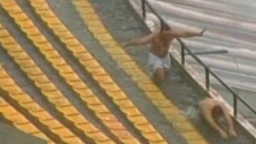
<path fill-rule="evenodd" d="M 209 123 L 209 125 L 218 131 L 223 138 L 227 138 L 227 133 L 223 131 L 223 129 L 221 129 L 221 127 L 214 121 L 212 117 L 212 109 L 209 107 L 209 104 L 202 101 L 199 103 L 199 106 L 202 109 L 205 120 Z"/>

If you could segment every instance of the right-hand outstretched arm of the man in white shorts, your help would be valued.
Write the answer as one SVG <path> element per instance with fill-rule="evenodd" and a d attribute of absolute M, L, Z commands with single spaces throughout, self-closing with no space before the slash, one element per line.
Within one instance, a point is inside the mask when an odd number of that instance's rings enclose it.
<path fill-rule="evenodd" d="M 198 32 L 198 31 L 186 31 L 186 30 L 171 30 L 170 33 L 172 35 L 172 37 L 175 38 L 188 38 L 188 37 L 193 37 L 193 36 L 203 36 L 204 32 L 207 29 L 202 29 L 202 31 Z"/>

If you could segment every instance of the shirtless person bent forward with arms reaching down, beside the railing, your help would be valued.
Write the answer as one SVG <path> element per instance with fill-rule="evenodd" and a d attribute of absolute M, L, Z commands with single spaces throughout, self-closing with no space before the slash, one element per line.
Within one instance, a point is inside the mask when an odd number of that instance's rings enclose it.
<path fill-rule="evenodd" d="M 199 102 L 199 107 L 205 117 L 205 120 L 214 130 L 220 133 L 222 138 L 228 138 L 228 135 L 236 136 L 234 124 L 228 113 L 228 109 L 222 102 L 220 102 L 220 100 L 207 98 Z M 228 123 L 227 132 L 218 124 L 221 117 L 224 117 Z"/>

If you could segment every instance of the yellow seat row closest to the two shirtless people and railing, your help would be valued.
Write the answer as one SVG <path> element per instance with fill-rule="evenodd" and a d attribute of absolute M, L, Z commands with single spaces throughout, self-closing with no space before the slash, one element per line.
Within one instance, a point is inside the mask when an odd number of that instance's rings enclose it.
<path fill-rule="evenodd" d="M 123 47 L 116 42 L 111 36 L 108 29 L 104 27 L 97 12 L 93 10 L 92 4 L 88 0 L 76 0 L 74 5 L 88 29 L 99 43 L 106 49 L 120 67 L 122 67 L 134 82 L 145 92 L 147 97 L 152 100 L 152 103 L 157 106 L 159 111 L 164 114 L 179 130 L 180 134 L 184 136 L 189 143 L 208 143 L 195 127 L 180 113 L 179 109 L 172 104 L 159 88 L 150 80 L 150 77 L 143 72 L 142 68 L 138 66 L 136 61 L 132 60 L 131 56 L 124 51 Z M 193 136 L 193 137 L 192 137 Z"/>

